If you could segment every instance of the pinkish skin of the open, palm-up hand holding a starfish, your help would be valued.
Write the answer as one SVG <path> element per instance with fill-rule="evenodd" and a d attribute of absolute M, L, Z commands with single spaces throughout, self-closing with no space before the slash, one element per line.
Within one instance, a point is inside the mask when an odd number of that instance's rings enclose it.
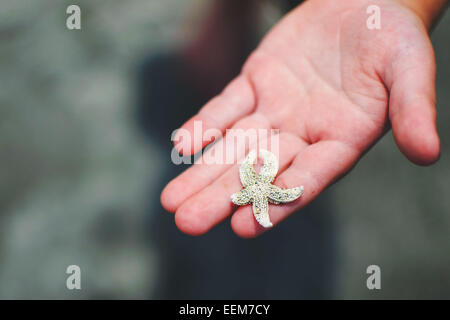
<path fill-rule="evenodd" d="M 379 30 L 366 27 L 366 8 L 373 4 L 381 8 Z M 306 1 L 265 36 L 240 75 L 182 128 L 194 136 L 193 121 L 200 120 L 204 129 L 222 132 L 280 130 L 274 184 L 303 185 L 305 192 L 292 203 L 270 205 L 274 227 L 345 175 L 390 128 L 409 160 L 432 164 L 440 153 L 428 37 L 439 11 L 433 10 L 396 1 Z M 182 154 L 198 152 L 208 142 L 175 138 Z M 242 189 L 238 170 L 237 164 L 194 165 L 166 186 L 161 202 L 175 212 L 181 231 L 201 235 L 230 215 L 241 237 L 269 230 L 256 222 L 251 206 L 231 203 L 230 195 Z"/>

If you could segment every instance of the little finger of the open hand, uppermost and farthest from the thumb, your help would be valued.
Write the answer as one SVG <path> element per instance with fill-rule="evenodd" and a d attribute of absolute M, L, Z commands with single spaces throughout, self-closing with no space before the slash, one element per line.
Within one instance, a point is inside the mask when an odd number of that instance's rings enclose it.
<path fill-rule="evenodd" d="M 254 107 L 252 86 L 246 76 L 240 75 L 177 131 L 175 148 L 184 155 L 199 152 L 218 138 L 220 133 L 224 133 L 226 128 L 250 114 Z M 203 133 L 207 130 L 215 132 L 209 139 L 204 139 Z"/>

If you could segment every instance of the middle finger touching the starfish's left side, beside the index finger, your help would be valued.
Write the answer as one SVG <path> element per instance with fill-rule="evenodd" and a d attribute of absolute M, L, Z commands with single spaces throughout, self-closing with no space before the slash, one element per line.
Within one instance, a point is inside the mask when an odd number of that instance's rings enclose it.
<path fill-rule="evenodd" d="M 280 172 L 306 143 L 291 134 L 279 135 Z M 230 196 L 242 189 L 238 165 L 228 169 L 211 185 L 184 202 L 175 214 L 178 228 L 190 235 L 201 235 L 229 216 L 235 206 Z"/>

